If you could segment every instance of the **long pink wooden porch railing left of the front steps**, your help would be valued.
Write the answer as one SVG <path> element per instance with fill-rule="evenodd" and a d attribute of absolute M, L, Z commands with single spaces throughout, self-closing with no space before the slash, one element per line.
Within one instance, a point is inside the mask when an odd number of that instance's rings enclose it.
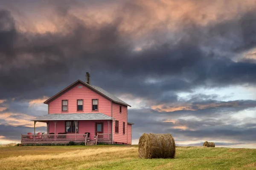
<path fill-rule="evenodd" d="M 87 134 L 21 134 L 21 141 L 84 141 L 85 137 Z"/>

